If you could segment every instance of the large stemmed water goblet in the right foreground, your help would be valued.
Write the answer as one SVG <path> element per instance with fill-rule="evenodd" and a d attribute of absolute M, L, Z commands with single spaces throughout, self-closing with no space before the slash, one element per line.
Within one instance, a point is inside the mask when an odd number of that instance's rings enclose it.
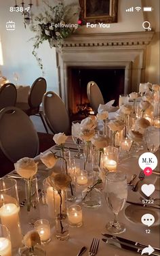
<path fill-rule="evenodd" d="M 125 231 L 125 225 L 119 223 L 117 218 L 127 199 L 127 178 L 123 172 L 107 173 L 104 195 L 108 207 L 115 215 L 114 221 L 106 224 L 106 229 L 111 234 L 120 234 Z"/>

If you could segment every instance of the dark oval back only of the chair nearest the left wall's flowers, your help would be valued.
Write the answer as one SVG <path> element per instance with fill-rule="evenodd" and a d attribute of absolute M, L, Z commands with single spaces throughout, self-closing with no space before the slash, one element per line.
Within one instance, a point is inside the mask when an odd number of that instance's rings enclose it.
<path fill-rule="evenodd" d="M 28 104 L 30 108 L 39 108 L 41 105 L 43 95 L 47 89 L 45 78 L 37 78 L 31 86 L 31 91 L 28 95 Z"/>

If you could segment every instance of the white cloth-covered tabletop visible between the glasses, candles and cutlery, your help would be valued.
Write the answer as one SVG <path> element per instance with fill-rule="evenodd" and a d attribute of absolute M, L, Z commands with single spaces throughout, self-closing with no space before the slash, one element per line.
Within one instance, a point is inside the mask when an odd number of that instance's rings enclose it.
<path fill-rule="evenodd" d="M 74 157 L 77 146 L 73 143 L 72 137 L 68 136 L 68 139 L 66 140 L 65 147 L 69 148 L 71 150 L 71 158 Z M 57 146 L 53 146 L 52 148 L 49 148 L 48 150 L 52 150 L 54 153 L 58 153 Z M 46 150 L 46 152 L 48 151 Z M 117 170 L 124 172 L 127 176 L 127 182 L 131 180 L 132 175 L 136 174 L 137 179 L 135 179 L 134 182 L 138 181 L 138 174 L 140 173 L 140 167 L 138 165 L 138 157 L 145 152 L 144 150 L 140 150 L 136 155 L 129 155 L 127 157 L 123 157 L 120 159 L 119 164 L 117 166 Z M 159 152 L 157 152 L 157 156 L 159 155 Z M 43 180 L 52 174 L 52 172 L 59 172 L 60 171 L 60 161 L 56 163 L 56 165 L 52 169 L 48 169 L 40 159 L 40 155 L 35 157 L 35 162 L 38 162 L 38 171 L 37 171 L 37 178 L 38 178 L 38 185 L 39 189 L 43 191 Z M 83 159 L 76 159 L 76 162 L 79 162 L 80 165 L 83 165 Z M 159 166 L 157 167 L 157 170 L 159 170 Z M 143 180 L 140 180 L 138 182 L 138 190 L 133 191 L 132 186 L 128 186 L 128 193 L 127 193 L 127 202 L 125 203 L 125 206 L 123 207 L 123 210 L 119 212 L 119 221 L 123 223 L 126 227 L 125 232 L 122 234 L 119 234 L 117 236 L 121 238 L 126 238 L 130 241 L 138 242 L 140 244 L 144 244 L 145 246 L 151 245 L 155 248 L 160 247 L 159 244 L 159 208 L 152 208 L 152 207 L 146 207 L 142 205 L 136 205 L 136 204 L 142 204 L 142 193 L 141 193 L 141 186 L 142 184 L 155 184 L 155 192 L 153 194 L 153 197 L 159 197 L 159 171 L 157 171 L 156 174 L 152 174 L 151 176 L 145 176 Z M 18 176 L 18 174 L 15 173 L 15 171 L 7 174 L 13 175 L 15 178 Z M 18 195 L 19 200 L 22 202 L 25 199 L 25 193 L 24 193 L 24 180 L 20 177 L 16 178 L 18 183 Z M 81 187 L 77 186 L 77 197 L 75 202 L 68 202 L 68 206 L 72 204 L 80 204 L 81 202 L 81 192 L 83 189 Z M 81 227 L 70 227 L 69 228 L 69 238 L 68 240 L 61 241 L 56 238 L 55 234 L 55 223 L 54 223 L 54 217 L 51 219 L 48 215 L 48 208 L 47 205 L 44 203 L 43 196 L 40 201 L 39 207 L 36 209 L 33 209 L 33 222 L 37 219 L 48 219 L 51 225 L 52 230 L 52 237 L 51 241 L 47 244 L 41 245 L 41 248 L 46 251 L 47 256 L 75 256 L 78 254 L 80 249 L 83 246 L 87 247 L 87 251 L 83 254 L 88 255 L 89 253 L 89 246 L 92 243 L 93 238 L 100 239 L 100 244 L 98 248 L 97 255 L 100 256 L 136 256 L 138 255 L 137 252 L 122 249 L 121 246 L 115 246 L 111 244 L 106 244 L 102 241 L 102 238 L 105 238 L 102 236 L 102 234 L 106 234 L 106 223 L 108 221 L 113 220 L 113 212 L 111 212 L 110 208 L 108 208 L 106 204 L 106 200 L 104 198 L 104 191 L 101 192 L 101 200 L 102 204 L 98 208 L 87 208 L 83 207 L 83 225 Z M 129 203 L 130 202 L 130 203 Z M 132 204 L 133 203 L 133 204 Z M 155 214 L 155 223 L 149 227 L 151 229 L 151 233 L 147 234 L 146 225 L 142 224 L 141 222 L 141 215 L 142 212 L 145 213 L 153 213 Z M 54 216 L 54 214 L 53 214 Z M 28 223 L 28 214 L 26 211 L 26 206 L 20 207 L 20 223 L 22 228 L 22 234 L 26 234 L 27 231 L 33 229 L 33 223 Z M 14 255 L 18 255 L 18 253 L 15 253 Z M 140 255 L 140 253 L 139 253 Z M 146 255 L 146 254 L 145 254 Z"/>

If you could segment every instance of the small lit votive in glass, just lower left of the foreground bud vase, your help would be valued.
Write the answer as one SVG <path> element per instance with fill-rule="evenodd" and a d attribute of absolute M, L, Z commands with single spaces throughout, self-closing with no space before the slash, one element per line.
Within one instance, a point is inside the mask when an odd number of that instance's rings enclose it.
<path fill-rule="evenodd" d="M 48 243 L 51 240 L 51 228 L 47 219 L 39 219 L 34 223 L 34 229 L 38 232 L 41 242 Z"/>

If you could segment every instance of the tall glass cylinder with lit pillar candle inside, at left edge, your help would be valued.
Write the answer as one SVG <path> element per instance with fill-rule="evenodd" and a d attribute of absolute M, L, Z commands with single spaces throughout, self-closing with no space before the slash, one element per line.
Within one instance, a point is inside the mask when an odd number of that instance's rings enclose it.
<path fill-rule="evenodd" d="M 13 247 L 22 244 L 19 211 L 20 206 L 16 180 L 12 178 L 0 178 L 1 224 L 9 229 Z"/>

